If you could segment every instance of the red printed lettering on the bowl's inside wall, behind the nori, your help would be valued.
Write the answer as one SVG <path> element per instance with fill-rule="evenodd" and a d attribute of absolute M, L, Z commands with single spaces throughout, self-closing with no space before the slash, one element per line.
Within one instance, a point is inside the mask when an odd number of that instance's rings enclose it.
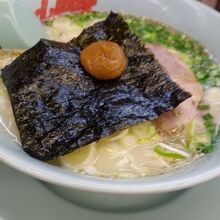
<path fill-rule="evenodd" d="M 91 11 L 92 6 L 97 4 L 97 0 L 56 0 L 54 8 L 49 11 L 47 16 L 48 0 L 41 1 L 41 7 L 35 11 L 35 14 L 44 20 L 47 17 L 60 15 L 64 12 L 87 12 Z"/>

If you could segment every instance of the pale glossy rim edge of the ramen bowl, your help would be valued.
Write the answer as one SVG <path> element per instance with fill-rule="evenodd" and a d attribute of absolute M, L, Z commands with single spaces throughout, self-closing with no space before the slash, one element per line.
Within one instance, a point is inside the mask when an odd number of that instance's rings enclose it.
<path fill-rule="evenodd" d="M 206 5 L 192 0 L 183 0 L 182 2 L 193 4 L 194 6 L 198 7 L 199 10 L 205 10 L 209 14 L 211 13 L 212 16 L 215 16 L 220 21 L 220 13 L 214 11 Z M 27 163 L 25 162 L 26 160 L 22 160 L 19 157 L 19 155 L 14 156 L 13 154 L 7 154 L 7 151 L 0 151 L 0 161 L 4 162 L 5 164 L 9 165 L 10 167 L 16 170 L 19 170 L 25 174 L 28 174 L 29 176 L 45 181 L 47 183 L 82 191 L 100 192 L 108 194 L 143 194 L 171 192 L 192 187 L 194 185 L 211 180 L 220 175 L 219 166 L 214 169 L 210 169 L 202 174 L 185 178 L 184 180 L 174 180 L 163 185 L 160 183 L 146 185 L 146 183 L 140 182 L 137 179 L 132 181 L 118 181 L 109 179 L 106 180 L 91 176 L 88 177 L 86 175 L 80 174 L 73 175 L 73 172 L 70 175 L 65 171 L 61 172 L 61 169 L 58 167 L 54 167 L 52 165 L 46 164 L 42 161 L 38 161 L 31 157 L 30 161 L 33 161 L 33 164 L 31 162 Z M 42 167 L 45 167 L 45 169 L 42 169 Z M 61 177 L 66 178 L 62 179 Z"/>

